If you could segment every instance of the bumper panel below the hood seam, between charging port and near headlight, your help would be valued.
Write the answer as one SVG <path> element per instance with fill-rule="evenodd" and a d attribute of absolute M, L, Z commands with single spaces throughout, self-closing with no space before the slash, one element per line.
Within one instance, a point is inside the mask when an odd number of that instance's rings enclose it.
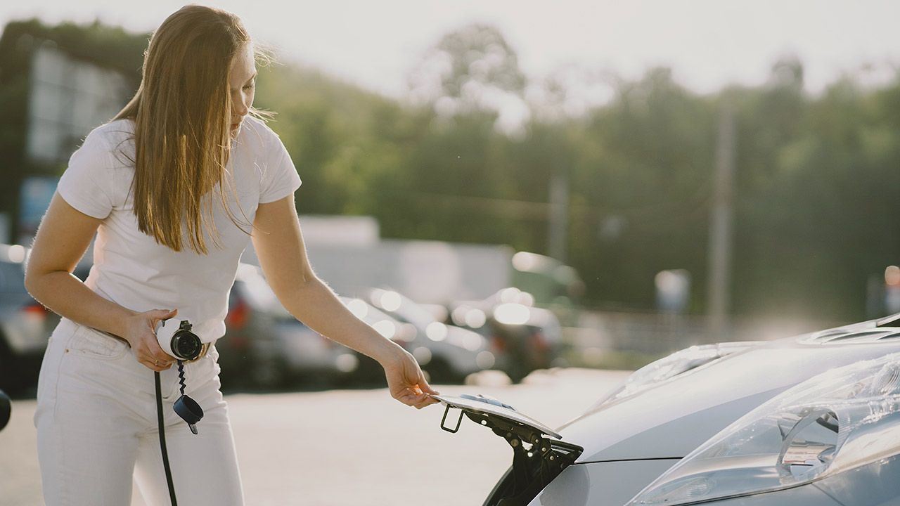
<path fill-rule="evenodd" d="M 528 506 L 622 506 L 679 459 L 570 465 Z"/>

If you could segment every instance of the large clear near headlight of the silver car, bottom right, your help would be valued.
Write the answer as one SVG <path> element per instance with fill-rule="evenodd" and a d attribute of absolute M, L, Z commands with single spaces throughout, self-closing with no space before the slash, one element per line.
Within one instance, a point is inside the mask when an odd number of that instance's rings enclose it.
<path fill-rule="evenodd" d="M 686 504 L 821 480 L 900 453 L 900 354 L 817 375 L 684 457 L 628 502 Z"/>

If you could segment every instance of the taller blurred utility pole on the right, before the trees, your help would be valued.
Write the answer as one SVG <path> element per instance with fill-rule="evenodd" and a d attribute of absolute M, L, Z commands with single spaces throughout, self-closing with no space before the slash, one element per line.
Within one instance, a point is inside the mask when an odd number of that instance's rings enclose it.
<path fill-rule="evenodd" d="M 722 96 L 716 169 L 713 176 L 713 208 L 710 212 L 708 339 L 726 340 L 730 333 L 732 221 L 734 214 L 734 108 L 728 93 Z"/>

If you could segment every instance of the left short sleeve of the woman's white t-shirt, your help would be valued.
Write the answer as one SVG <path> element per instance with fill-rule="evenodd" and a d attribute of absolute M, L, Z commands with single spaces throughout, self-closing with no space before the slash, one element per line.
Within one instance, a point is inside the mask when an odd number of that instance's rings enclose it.
<path fill-rule="evenodd" d="M 106 218 L 112 212 L 111 159 L 101 134 L 91 132 L 69 158 L 57 192 L 76 210 L 100 220 Z"/>

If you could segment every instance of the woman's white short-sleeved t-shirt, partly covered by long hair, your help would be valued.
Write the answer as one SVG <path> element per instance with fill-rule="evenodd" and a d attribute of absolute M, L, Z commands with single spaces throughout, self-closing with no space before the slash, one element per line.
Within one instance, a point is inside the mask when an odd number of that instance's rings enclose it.
<path fill-rule="evenodd" d="M 208 255 L 176 252 L 138 230 L 130 194 L 134 177 L 134 122 L 117 120 L 91 131 L 69 159 L 57 191 L 72 207 L 103 222 L 94 242 L 94 266 L 85 285 L 130 310 L 177 309 L 203 342 L 225 334 L 225 315 L 240 255 L 250 236 L 222 208 L 217 185 L 211 198 L 221 248 L 205 232 Z M 275 202 L 301 185 L 287 149 L 265 123 L 246 117 L 231 142 L 225 194 L 232 214 L 250 231 L 260 203 Z M 238 203 L 234 194 L 237 194 Z M 246 220 L 245 220 L 246 217 Z M 184 234 L 183 244 L 189 244 Z"/>

